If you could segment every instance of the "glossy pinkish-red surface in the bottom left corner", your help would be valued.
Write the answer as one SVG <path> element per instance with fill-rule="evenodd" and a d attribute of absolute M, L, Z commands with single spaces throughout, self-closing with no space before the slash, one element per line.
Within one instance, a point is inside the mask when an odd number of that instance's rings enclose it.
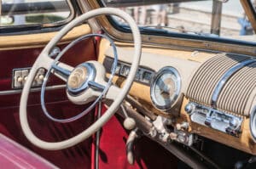
<path fill-rule="evenodd" d="M 56 168 L 32 151 L 0 134 L 1 168 Z"/>

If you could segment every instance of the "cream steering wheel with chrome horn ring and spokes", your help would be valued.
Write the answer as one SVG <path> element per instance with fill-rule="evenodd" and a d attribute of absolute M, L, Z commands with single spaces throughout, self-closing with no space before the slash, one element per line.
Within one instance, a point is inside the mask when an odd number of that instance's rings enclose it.
<path fill-rule="evenodd" d="M 125 85 L 122 88 L 115 87 L 111 83 L 111 81 L 105 82 L 106 70 L 104 66 L 97 61 L 88 61 L 73 68 L 70 65 L 66 65 L 58 61 L 58 59 L 61 58 L 61 55 L 65 53 L 65 49 L 61 51 L 61 53 L 56 57 L 56 59 L 51 59 L 49 57 L 49 53 L 52 50 L 52 48 L 54 48 L 55 45 L 61 40 L 61 38 L 64 37 L 68 31 L 72 30 L 74 26 L 83 23 L 84 20 L 90 20 L 91 18 L 96 17 L 98 15 L 102 15 L 102 14 L 116 15 L 122 18 L 123 20 L 125 20 L 128 23 L 128 25 L 130 25 L 131 27 L 135 50 L 134 50 L 134 56 L 133 56 L 133 61 L 131 64 L 131 70 L 130 70 L 129 76 L 126 78 Z M 26 83 L 22 90 L 21 98 L 20 98 L 20 125 L 22 128 L 22 131 L 26 135 L 26 138 L 28 138 L 28 140 L 32 144 L 38 146 L 39 148 L 49 149 L 49 150 L 66 149 L 75 144 L 79 144 L 81 141 L 83 141 L 86 138 L 89 138 L 92 134 L 94 134 L 97 130 L 99 130 L 111 118 L 111 116 L 116 112 L 116 110 L 119 109 L 120 104 L 122 104 L 123 99 L 125 99 L 125 96 L 129 92 L 131 88 L 131 84 L 136 76 L 137 67 L 140 62 L 140 57 L 141 57 L 140 32 L 138 30 L 138 27 L 135 21 L 131 18 L 129 14 L 126 14 L 124 11 L 118 8 L 97 8 L 85 14 L 82 14 L 75 20 L 71 21 L 69 24 L 63 27 L 61 31 L 59 31 L 56 34 L 56 36 L 52 38 L 51 41 L 46 45 L 42 53 L 39 54 L 38 59 L 32 65 L 32 69 L 29 75 L 27 76 Z M 115 59 L 117 58 L 115 57 Z M 115 71 L 114 66 L 115 65 L 113 65 L 112 75 L 114 75 L 114 71 Z M 48 70 L 46 77 L 48 77 L 48 74 L 50 72 L 53 72 L 55 76 L 60 77 L 64 81 L 67 81 L 67 98 L 70 101 L 72 101 L 74 104 L 86 104 L 93 100 L 96 100 L 95 102 L 98 102 L 100 99 L 102 99 L 102 97 L 113 100 L 113 104 L 111 104 L 108 110 L 97 121 L 91 124 L 90 127 L 85 129 L 83 132 L 80 132 L 78 135 L 74 136 L 73 138 L 68 138 L 60 142 L 46 142 L 38 138 L 37 136 L 34 135 L 31 128 L 29 127 L 29 124 L 27 121 L 26 107 L 27 107 L 28 94 L 32 86 L 34 76 L 36 76 L 37 70 L 42 67 Z M 46 82 L 47 82 L 47 78 L 44 78 L 44 83 Z M 41 91 L 41 104 L 42 104 L 44 103 L 42 102 L 42 99 L 44 99 L 45 85 L 43 85 L 41 90 L 42 90 Z M 43 98 L 42 98 L 42 95 L 43 95 Z M 42 104 L 42 108 L 44 110 L 45 108 L 44 104 Z M 85 110 L 85 111 L 88 111 L 88 110 Z M 82 112 L 82 114 L 83 113 L 84 112 Z M 72 120 L 70 119 L 55 120 L 54 118 L 52 120 L 59 121 L 59 122 L 68 122 L 68 121 L 74 121 L 79 117 L 80 116 L 75 117 Z"/>

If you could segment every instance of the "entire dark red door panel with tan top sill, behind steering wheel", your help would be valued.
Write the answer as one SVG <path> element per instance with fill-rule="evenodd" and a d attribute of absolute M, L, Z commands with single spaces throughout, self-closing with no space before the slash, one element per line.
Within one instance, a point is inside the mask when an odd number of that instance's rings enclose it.
<path fill-rule="evenodd" d="M 89 32 L 90 29 L 88 26 L 79 26 L 79 28 L 75 28 L 64 37 L 58 47 L 64 48 L 71 40 Z M 28 142 L 20 128 L 19 105 L 21 89 L 12 88 L 13 70 L 32 67 L 46 43 L 54 35 L 55 33 L 44 33 L 14 36 L 6 37 L 5 40 L 5 37 L 0 37 L 0 132 L 18 143 L 25 145 L 27 148 L 32 149 L 38 155 L 42 155 L 56 166 L 60 166 L 61 168 L 67 168 L 68 166 L 89 168 L 91 138 L 70 149 L 48 151 L 39 149 Z M 95 42 L 94 39 L 89 38 L 69 49 L 61 58 L 61 62 L 75 66 L 95 59 Z M 52 115 L 59 118 L 67 118 L 68 116 L 77 115 L 86 108 L 86 105 L 74 105 L 67 100 L 65 82 L 62 82 L 55 76 L 50 76 L 47 86 L 54 87 L 59 84 L 63 84 L 63 87 L 58 87 L 55 90 L 47 90 L 45 93 L 46 107 Z M 28 120 L 33 132 L 39 138 L 51 142 L 70 138 L 89 127 L 94 119 L 93 110 L 82 119 L 68 124 L 49 121 L 41 109 L 40 88 L 33 90 L 35 91 L 30 93 L 28 99 Z"/>

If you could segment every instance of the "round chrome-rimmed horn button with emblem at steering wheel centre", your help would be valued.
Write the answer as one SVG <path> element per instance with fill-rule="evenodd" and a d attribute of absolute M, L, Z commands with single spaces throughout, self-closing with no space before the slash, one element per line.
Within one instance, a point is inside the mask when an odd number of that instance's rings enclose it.
<path fill-rule="evenodd" d="M 67 78 L 67 91 L 70 94 L 77 95 L 89 87 L 88 83 L 93 81 L 96 76 L 96 70 L 90 63 L 83 63 L 73 69 Z"/>

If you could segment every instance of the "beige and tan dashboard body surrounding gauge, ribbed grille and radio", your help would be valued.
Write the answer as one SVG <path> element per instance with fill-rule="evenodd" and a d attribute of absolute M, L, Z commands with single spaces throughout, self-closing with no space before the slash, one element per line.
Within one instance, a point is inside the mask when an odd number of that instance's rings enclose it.
<path fill-rule="evenodd" d="M 128 43 L 120 42 L 117 42 L 116 45 L 118 47 L 119 60 L 125 63 L 131 63 L 132 46 Z M 226 144 L 230 147 L 256 155 L 256 144 L 253 142 L 253 138 L 251 136 L 249 128 L 250 119 L 248 116 L 242 115 L 243 122 L 241 124 L 241 135 L 240 137 L 234 137 L 227 133 L 218 132 L 217 130 L 191 121 L 189 115 L 184 110 L 185 105 L 189 103 L 189 99 L 184 97 L 184 94 L 187 92 L 192 76 L 194 76 L 195 71 L 198 70 L 203 63 L 216 55 L 216 53 L 192 51 L 187 49 L 143 46 L 140 66 L 149 67 L 155 72 L 167 65 L 175 67 L 180 72 L 182 78 L 181 94 L 179 95 L 175 106 L 168 111 L 158 110 L 154 107 L 154 104 L 150 98 L 150 87 L 148 85 L 140 82 L 134 82 L 131 87 L 130 94 L 155 115 L 171 117 L 173 112 L 177 111 L 177 122 L 188 121 L 189 132 L 196 133 L 203 137 L 210 138 L 218 143 Z M 112 49 L 109 47 L 109 43 L 102 40 L 99 50 L 99 61 L 103 63 L 106 57 L 111 56 Z M 114 82 L 119 87 L 122 87 L 125 82 L 125 77 L 115 76 Z"/>

